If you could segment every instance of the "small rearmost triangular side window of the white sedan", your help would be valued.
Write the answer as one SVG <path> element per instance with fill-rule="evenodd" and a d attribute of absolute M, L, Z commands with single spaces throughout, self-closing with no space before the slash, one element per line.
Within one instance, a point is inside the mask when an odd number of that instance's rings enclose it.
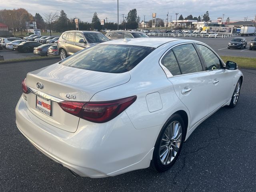
<path fill-rule="evenodd" d="M 170 50 L 161 60 L 161 63 L 163 66 L 165 66 L 171 74 L 174 75 L 180 75 L 180 68 L 178 65 L 178 62 L 174 56 L 174 53 L 172 50 Z"/>

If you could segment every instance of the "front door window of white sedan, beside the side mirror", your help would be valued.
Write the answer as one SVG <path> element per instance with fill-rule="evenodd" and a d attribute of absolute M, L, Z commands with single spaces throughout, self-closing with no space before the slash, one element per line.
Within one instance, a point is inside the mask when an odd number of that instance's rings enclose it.
<path fill-rule="evenodd" d="M 220 69 L 222 67 L 220 59 L 208 47 L 200 44 L 196 44 L 196 46 L 204 59 L 207 70 Z"/>

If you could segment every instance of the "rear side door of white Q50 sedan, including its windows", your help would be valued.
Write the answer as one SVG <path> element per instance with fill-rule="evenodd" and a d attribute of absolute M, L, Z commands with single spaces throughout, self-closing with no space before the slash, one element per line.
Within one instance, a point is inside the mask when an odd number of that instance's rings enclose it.
<path fill-rule="evenodd" d="M 190 112 L 190 127 L 208 115 L 212 93 L 212 80 L 204 71 L 193 44 L 175 46 L 161 60 L 171 73 L 178 98 Z"/>

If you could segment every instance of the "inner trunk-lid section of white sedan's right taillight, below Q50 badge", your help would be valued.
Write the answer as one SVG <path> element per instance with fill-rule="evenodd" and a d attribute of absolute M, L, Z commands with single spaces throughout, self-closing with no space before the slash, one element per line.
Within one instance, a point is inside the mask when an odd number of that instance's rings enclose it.
<path fill-rule="evenodd" d="M 63 101 L 58 104 L 67 113 L 80 117 L 81 109 L 86 102 Z"/>

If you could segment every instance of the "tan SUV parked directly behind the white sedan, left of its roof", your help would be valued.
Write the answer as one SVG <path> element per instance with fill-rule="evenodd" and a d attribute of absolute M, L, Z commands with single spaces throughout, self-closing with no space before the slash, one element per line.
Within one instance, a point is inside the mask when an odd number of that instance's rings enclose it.
<path fill-rule="evenodd" d="M 106 36 L 97 31 L 66 31 L 58 40 L 58 51 L 63 60 L 84 48 L 109 41 Z"/>

